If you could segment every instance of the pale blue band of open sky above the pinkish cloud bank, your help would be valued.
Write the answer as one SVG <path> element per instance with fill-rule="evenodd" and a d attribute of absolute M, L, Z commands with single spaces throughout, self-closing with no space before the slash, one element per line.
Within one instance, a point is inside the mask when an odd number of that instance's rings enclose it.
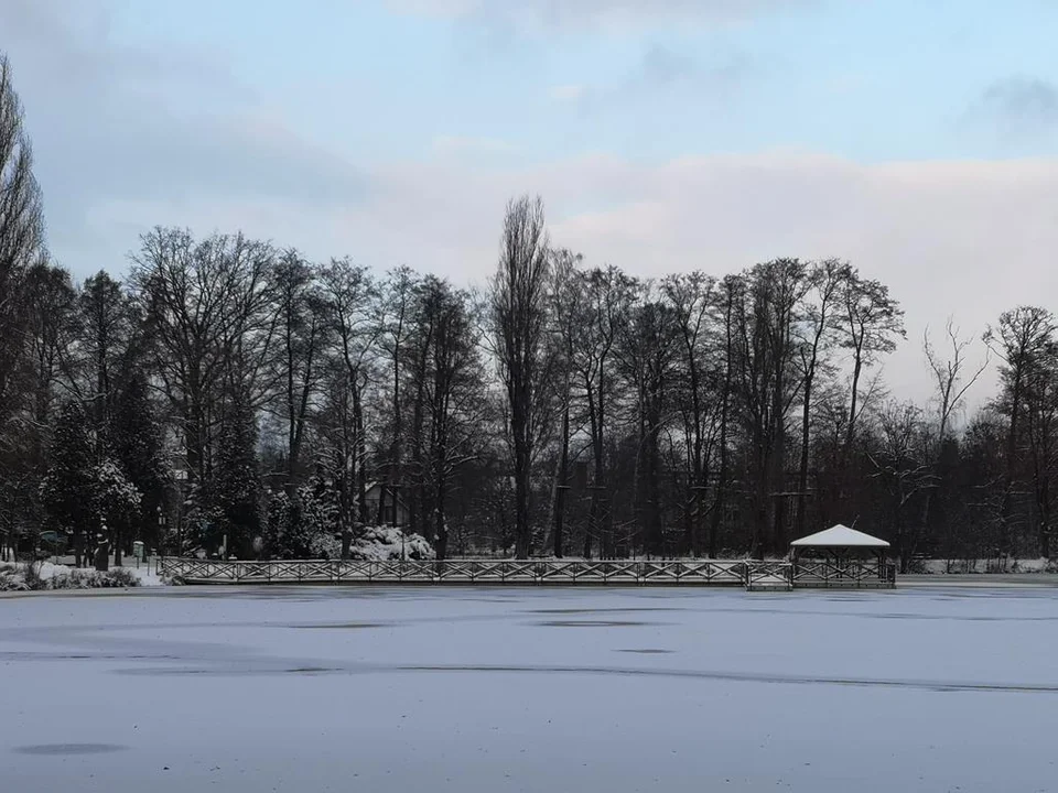
<path fill-rule="evenodd" d="M 776 146 L 861 161 L 993 157 L 1058 145 L 973 118 L 989 110 L 979 106 L 997 82 L 1058 82 L 1058 3 L 580 6 L 596 10 L 553 18 L 562 4 L 533 0 L 127 0 L 112 6 L 111 22 L 115 43 L 199 52 L 251 105 L 361 157 L 425 157 L 443 138 L 503 143 L 527 162 Z M 640 10 L 622 21 L 607 6 Z"/>

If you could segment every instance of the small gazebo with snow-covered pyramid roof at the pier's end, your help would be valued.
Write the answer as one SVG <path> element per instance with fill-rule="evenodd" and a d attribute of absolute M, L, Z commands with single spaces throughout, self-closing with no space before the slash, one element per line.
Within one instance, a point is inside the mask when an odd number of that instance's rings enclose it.
<path fill-rule="evenodd" d="M 885 561 L 888 547 L 885 540 L 839 523 L 790 543 L 794 578 L 827 586 L 894 586 L 896 567 Z"/>

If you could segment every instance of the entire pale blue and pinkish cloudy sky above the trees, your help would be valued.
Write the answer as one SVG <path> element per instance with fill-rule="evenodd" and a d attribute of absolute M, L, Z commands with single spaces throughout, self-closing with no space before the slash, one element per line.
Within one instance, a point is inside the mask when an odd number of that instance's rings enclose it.
<path fill-rule="evenodd" d="M 848 259 L 917 400 L 927 328 L 1058 293 L 1055 30 L 1058 0 L 0 0 L 78 278 L 162 225 L 483 284 L 540 194 L 555 245 L 644 278 Z"/>

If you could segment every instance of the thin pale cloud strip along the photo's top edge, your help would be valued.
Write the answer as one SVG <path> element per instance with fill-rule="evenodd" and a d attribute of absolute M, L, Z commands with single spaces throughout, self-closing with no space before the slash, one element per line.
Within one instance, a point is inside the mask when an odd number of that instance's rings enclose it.
<path fill-rule="evenodd" d="M 391 7 L 408 13 L 536 31 L 673 21 L 722 24 L 812 4 L 814 0 L 390 0 Z"/>

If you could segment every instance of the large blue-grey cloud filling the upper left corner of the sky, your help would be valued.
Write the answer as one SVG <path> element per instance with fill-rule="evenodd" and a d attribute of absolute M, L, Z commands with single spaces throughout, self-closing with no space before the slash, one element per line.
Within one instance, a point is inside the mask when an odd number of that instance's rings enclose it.
<path fill-rule="evenodd" d="M 64 263 L 120 265 L 91 206 L 270 196 L 312 208 L 368 191 L 360 169 L 264 109 L 222 54 L 122 46 L 110 24 L 97 3 L 0 3 L 50 245 Z"/>

